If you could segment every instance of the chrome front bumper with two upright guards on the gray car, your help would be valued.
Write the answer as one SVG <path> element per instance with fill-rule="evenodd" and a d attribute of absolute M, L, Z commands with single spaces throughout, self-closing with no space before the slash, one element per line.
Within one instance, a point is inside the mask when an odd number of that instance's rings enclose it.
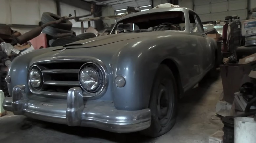
<path fill-rule="evenodd" d="M 83 101 L 82 90 L 71 88 L 67 100 L 27 96 L 25 86 L 14 87 L 12 97 L 6 97 L 3 107 L 15 115 L 25 115 L 47 122 L 99 128 L 117 133 L 146 129 L 151 123 L 150 109 L 117 110 L 111 101 Z"/>

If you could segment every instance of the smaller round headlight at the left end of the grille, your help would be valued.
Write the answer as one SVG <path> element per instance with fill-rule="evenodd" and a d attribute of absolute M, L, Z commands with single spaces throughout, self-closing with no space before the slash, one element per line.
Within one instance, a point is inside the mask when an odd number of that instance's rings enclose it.
<path fill-rule="evenodd" d="M 29 72 L 29 81 L 32 87 L 38 88 L 41 85 L 41 74 L 37 69 L 32 69 Z"/>

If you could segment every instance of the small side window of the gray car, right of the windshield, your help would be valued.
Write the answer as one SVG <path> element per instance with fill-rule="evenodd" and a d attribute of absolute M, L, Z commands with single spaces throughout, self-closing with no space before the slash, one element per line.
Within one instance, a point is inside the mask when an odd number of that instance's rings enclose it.
<path fill-rule="evenodd" d="M 194 13 L 189 12 L 190 30 L 191 32 L 203 33 L 203 25 L 201 24 L 200 18 Z"/>

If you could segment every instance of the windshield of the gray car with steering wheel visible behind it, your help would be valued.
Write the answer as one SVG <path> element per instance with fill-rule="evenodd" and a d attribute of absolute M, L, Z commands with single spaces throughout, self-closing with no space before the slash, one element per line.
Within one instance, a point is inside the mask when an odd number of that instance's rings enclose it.
<path fill-rule="evenodd" d="M 160 30 L 185 30 L 184 13 L 181 11 L 168 11 L 126 18 L 117 22 L 111 34 Z"/>

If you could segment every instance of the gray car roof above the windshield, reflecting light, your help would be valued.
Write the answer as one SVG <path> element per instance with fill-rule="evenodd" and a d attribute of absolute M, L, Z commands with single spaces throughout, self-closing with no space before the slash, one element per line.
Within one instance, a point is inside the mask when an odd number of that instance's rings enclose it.
<path fill-rule="evenodd" d="M 171 8 L 156 8 L 156 9 L 150 9 L 150 10 L 146 10 L 146 11 L 140 11 L 140 12 L 136 12 L 136 13 L 132 13 L 132 14 L 128 14 L 122 18 L 120 18 L 118 21 L 127 19 L 127 18 L 131 18 L 134 16 L 139 16 L 139 15 L 144 15 L 144 14 L 149 14 L 149 13 L 158 13 L 158 12 L 167 12 L 167 11 L 182 11 L 182 12 L 186 12 L 186 11 L 193 11 L 190 8 L 185 8 L 185 7 L 171 7 Z"/>

